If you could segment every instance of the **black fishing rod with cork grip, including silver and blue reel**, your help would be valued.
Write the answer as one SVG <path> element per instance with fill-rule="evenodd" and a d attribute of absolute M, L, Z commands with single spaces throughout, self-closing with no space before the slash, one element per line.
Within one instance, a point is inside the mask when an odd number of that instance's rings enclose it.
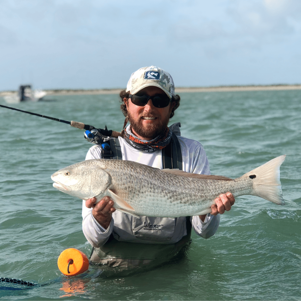
<path fill-rule="evenodd" d="M 104 141 L 104 136 L 113 137 L 113 138 L 117 138 L 117 137 L 121 136 L 120 132 L 108 130 L 107 126 L 104 129 L 96 129 L 94 126 L 90 126 L 88 124 L 84 124 L 84 123 L 77 122 L 77 121 L 62 120 L 62 119 L 49 117 L 49 116 L 45 116 L 45 115 L 41 115 L 41 114 L 37 114 L 37 113 L 33 113 L 33 112 L 19 110 L 19 109 L 12 108 L 12 107 L 7 107 L 2 104 L 0 104 L 0 107 L 31 114 L 31 115 L 36 115 L 36 116 L 43 117 L 43 118 L 48 118 L 48 119 L 55 120 L 58 122 L 67 123 L 67 124 L 70 124 L 70 126 L 73 126 L 74 128 L 77 128 L 77 129 L 81 129 L 81 130 L 85 129 L 86 130 L 85 131 L 85 139 L 93 144 L 101 144 Z"/>

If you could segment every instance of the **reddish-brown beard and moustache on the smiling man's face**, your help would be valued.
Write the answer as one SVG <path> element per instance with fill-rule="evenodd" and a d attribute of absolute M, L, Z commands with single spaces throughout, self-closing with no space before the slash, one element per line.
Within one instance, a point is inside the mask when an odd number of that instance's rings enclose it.
<path fill-rule="evenodd" d="M 147 126 L 143 126 L 141 123 L 142 117 L 157 117 L 150 113 L 141 113 L 138 116 L 138 119 L 136 120 L 133 118 L 131 113 L 128 111 L 128 118 L 129 122 L 131 124 L 132 129 L 135 131 L 136 134 L 138 134 L 140 137 L 142 137 L 144 140 L 152 140 L 156 138 L 159 135 L 162 135 L 165 132 L 165 129 L 167 128 L 167 124 L 169 122 L 169 115 L 165 119 L 156 119 L 159 120 L 159 123 L 157 124 L 149 124 Z"/>

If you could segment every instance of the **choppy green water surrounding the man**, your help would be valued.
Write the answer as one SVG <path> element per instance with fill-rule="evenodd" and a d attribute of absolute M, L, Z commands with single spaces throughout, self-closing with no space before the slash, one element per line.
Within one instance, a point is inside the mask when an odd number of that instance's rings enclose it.
<path fill-rule="evenodd" d="M 50 97 L 48 97 L 50 99 Z M 52 97 L 21 110 L 116 131 L 118 95 Z M 90 268 L 67 279 L 57 257 L 70 247 L 90 254 L 81 201 L 52 187 L 50 175 L 84 160 L 83 131 L 0 108 L 0 276 L 48 283 L 0 290 L 0 300 L 301 300 L 301 91 L 183 93 L 171 119 L 200 141 L 213 174 L 237 177 L 282 154 L 286 206 L 236 200 L 215 236 L 193 234 L 186 258 L 127 277 Z M 0 103 L 5 102 L 0 99 Z"/>

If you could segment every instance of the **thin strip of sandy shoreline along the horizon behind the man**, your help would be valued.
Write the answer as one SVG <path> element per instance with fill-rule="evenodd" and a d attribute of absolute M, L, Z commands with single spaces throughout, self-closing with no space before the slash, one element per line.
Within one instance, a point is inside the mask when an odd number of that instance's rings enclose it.
<path fill-rule="evenodd" d="M 119 94 L 119 89 L 53 89 L 44 90 L 47 95 L 87 95 L 87 94 Z M 273 90 L 300 90 L 300 85 L 246 85 L 246 86 L 214 86 L 214 87 L 178 87 L 175 93 L 188 92 L 235 92 L 235 91 L 273 91 Z M 0 91 L 0 96 L 16 95 L 17 91 Z"/>

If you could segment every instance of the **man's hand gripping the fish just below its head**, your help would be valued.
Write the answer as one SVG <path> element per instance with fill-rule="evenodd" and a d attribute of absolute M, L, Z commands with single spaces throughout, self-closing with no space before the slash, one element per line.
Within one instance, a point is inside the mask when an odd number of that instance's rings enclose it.
<path fill-rule="evenodd" d="M 97 222 L 107 229 L 112 219 L 112 213 L 116 210 L 113 205 L 113 200 L 110 197 L 103 197 L 98 203 L 96 203 L 96 197 L 86 200 L 86 207 L 93 208 L 92 214 Z"/>

